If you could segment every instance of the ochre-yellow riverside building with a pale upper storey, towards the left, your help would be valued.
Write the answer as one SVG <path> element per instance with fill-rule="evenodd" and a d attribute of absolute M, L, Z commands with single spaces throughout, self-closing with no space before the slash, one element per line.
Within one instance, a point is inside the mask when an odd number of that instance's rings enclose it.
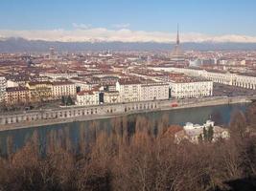
<path fill-rule="evenodd" d="M 52 83 L 49 81 L 28 82 L 26 87 L 30 92 L 32 102 L 52 99 Z"/>

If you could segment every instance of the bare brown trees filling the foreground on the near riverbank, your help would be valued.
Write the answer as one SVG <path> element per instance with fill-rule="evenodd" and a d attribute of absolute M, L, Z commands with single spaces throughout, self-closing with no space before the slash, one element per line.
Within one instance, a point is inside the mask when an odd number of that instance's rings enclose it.
<path fill-rule="evenodd" d="M 230 121 L 231 138 L 216 143 L 174 143 L 179 127 L 168 117 L 111 119 L 109 132 L 92 122 L 81 128 L 79 148 L 70 130 L 51 133 L 41 153 L 35 133 L 27 144 L 0 159 L 0 190 L 255 190 L 256 104 Z M 130 123 L 133 123 L 131 125 Z M 130 127 L 134 128 L 130 128 Z M 89 138 L 89 139 L 88 139 Z M 242 187 L 241 187 L 242 186 Z"/>

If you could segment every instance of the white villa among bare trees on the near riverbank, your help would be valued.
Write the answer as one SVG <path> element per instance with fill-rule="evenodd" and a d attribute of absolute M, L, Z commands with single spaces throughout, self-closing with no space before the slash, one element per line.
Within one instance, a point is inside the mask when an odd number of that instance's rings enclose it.
<path fill-rule="evenodd" d="M 209 131 L 210 128 L 213 130 L 212 139 L 210 141 L 215 142 L 220 138 L 229 138 L 229 132 L 227 129 L 215 126 L 214 121 L 207 120 L 203 125 L 193 124 L 190 122 L 186 123 L 183 130 L 175 133 L 175 142 L 179 143 L 186 139 L 192 143 L 198 143 L 200 139 L 201 141 L 206 140 L 204 132 Z"/>

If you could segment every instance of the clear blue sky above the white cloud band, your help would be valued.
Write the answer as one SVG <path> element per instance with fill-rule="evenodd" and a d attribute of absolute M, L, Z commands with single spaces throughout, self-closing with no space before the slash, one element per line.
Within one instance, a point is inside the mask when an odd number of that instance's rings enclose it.
<path fill-rule="evenodd" d="M 255 0 L 1 0 L 0 30 L 256 34 Z"/>

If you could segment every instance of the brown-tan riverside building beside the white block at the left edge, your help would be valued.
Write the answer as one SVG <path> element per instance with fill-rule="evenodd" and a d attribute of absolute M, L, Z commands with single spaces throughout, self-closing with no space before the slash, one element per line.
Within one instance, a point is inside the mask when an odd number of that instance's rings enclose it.
<path fill-rule="evenodd" d="M 30 101 L 30 92 L 26 87 L 12 87 L 6 89 L 6 104 L 22 104 Z"/>

